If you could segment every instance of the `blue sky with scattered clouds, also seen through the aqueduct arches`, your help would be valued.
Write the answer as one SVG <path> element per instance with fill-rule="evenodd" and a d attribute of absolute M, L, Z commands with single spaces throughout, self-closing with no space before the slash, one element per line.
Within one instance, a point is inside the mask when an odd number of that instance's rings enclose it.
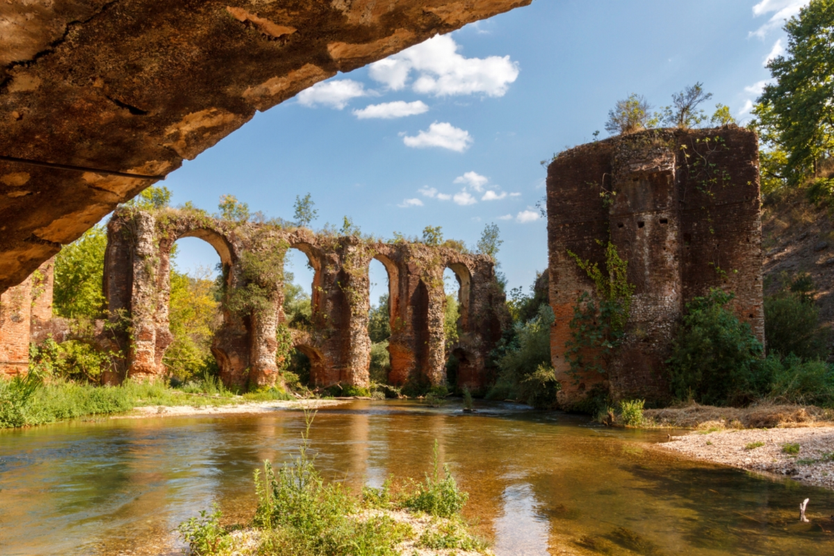
<path fill-rule="evenodd" d="M 441 226 L 474 248 L 496 223 L 509 288 L 526 289 L 547 263 L 540 161 L 605 137 L 608 111 L 630 93 L 661 108 L 701 82 L 714 95 L 705 108 L 724 103 L 743 124 L 786 44 L 785 19 L 805 4 L 534 0 L 258 113 L 163 185 L 174 204 L 215 212 L 228 193 L 286 219 L 310 193 L 313 228 L 349 216 L 382 238 Z M 219 260 L 199 240 L 178 245 L 181 270 Z M 309 283 L 301 261 L 293 271 Z"/>

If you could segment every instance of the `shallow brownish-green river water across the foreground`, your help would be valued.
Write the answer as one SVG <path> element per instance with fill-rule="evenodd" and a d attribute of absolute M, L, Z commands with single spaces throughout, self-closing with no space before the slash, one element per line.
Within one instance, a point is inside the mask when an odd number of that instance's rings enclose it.
<path fill-rule="evenodd" d="M 834 554 L 834 493 L 647 448 L 666 431 L 507 404 L 320 410 L 326 478 L 422 478 L 437 439 L 495 553 Z M 0 554 L 181 553 L 173 529 L 218 503 L 245 521 L 252 472 L 294 456 L 304 415 L 114 419 L 0 431 Z M 798 523 L 811 498 L 812 523 Z"/>

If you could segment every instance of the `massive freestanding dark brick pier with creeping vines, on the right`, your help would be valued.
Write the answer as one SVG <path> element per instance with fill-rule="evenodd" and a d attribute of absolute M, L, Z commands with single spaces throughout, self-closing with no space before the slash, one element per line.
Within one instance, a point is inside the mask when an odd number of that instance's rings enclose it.
<path fill-rule="evenodd" d="M 601 384 L 615 398 L 668 397 L 664 362 L 686 303 L 724 288 L 764 342 L 758 151 L 742 128 L 651 130 L 572 148 L 547 177 L 550 349 L 570 406 Z M 568 252 L 605 268 L 610 240 L 635 286 L 607 373 L 565 360 L 580 293 L 594 283 Z M 586 356 L 591 355 L 585 353 Z"/>

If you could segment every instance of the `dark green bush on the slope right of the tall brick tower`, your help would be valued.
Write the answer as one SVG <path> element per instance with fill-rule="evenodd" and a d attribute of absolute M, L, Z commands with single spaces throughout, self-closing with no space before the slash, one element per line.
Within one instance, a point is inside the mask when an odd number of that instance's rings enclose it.
<path fill-rule="evenodd" d="M 828 357 L 831 328 L 820 323 L 810 275 L 799 274 L 789 288 L 765 298 L 767 353 L 794 354 L 802 359 Z"/>

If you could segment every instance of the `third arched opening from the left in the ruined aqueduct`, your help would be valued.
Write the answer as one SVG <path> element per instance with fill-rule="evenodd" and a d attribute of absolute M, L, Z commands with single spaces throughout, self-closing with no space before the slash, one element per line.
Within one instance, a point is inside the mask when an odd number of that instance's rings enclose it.
<path fill-rule="evenodd" d="M 398 301 L 392 274 L 396 267 L 384 255 L 372 258 L 368 265 L 369 312 L 368 337 L 370 338 L 369 375 L 372 383 L 388 384 L 391 371 L 389 341 L 394 323 L 394 305 Z"/>

